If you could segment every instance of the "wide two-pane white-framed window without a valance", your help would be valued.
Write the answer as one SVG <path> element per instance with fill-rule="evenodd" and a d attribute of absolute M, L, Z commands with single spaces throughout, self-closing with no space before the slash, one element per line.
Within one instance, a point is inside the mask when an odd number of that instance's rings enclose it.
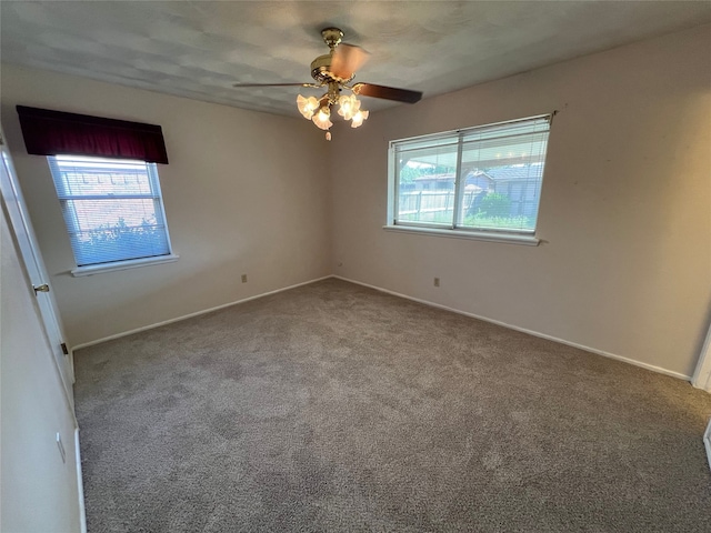
<path fill-rule="evenodd" d="M 385 228 L 538 243 L 551 118 L 391 141 Z"/>

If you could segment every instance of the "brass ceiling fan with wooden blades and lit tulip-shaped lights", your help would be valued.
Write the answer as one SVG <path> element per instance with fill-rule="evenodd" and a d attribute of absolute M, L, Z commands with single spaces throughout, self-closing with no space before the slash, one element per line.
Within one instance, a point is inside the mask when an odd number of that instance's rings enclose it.
<path fill-rule="evenodd" d="M 361 109 L 357 97 L 382 98 L 395 102 L 415 103 L 422 98 L 420 91 L 375 86 L 373 83 L 352 83 L 356 71 L 368 61 L 369 53 L 360 47 L 341 43 L 343 32 L 338 28 L 321 30 L 323 42 L 331 51 L 319 56 L 311 62 L 311 77 L 314 83 L 234 83 L 236 88 L 247 87 L 307 87 L 326 89 L 321 97 L 306 98 L 299 94 L 297 107 L 301 114 L 311 120 L 318 128 L 326 130 L 326 139 L 331 140 L 331 107 L 339 105 L 338 114 L 351 121 L 351 128 L 358 128 L 368 118 L 369 112 Z M 350 95 L 341 94 L 343 89 Z"/>

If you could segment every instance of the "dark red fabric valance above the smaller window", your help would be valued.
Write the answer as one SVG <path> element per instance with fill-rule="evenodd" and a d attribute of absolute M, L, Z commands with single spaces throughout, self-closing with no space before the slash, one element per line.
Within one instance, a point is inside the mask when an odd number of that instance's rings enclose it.
<path fill-rule="evenodd" d="M 27 153 L 134 159 L 168 164 L 160 125 L 17 107 Z"/>

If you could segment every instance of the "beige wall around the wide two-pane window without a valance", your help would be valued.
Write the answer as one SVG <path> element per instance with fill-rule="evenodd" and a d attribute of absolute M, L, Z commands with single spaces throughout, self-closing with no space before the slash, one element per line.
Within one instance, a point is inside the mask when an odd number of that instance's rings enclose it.
<path fill-rule="evenodd" d="M 334 273 L 690 375 L 711 301 L 710 50 L 707 26 L 339 131 Z M 381 229 L 389 140 L 552 110 L 541 245 Z"/>

